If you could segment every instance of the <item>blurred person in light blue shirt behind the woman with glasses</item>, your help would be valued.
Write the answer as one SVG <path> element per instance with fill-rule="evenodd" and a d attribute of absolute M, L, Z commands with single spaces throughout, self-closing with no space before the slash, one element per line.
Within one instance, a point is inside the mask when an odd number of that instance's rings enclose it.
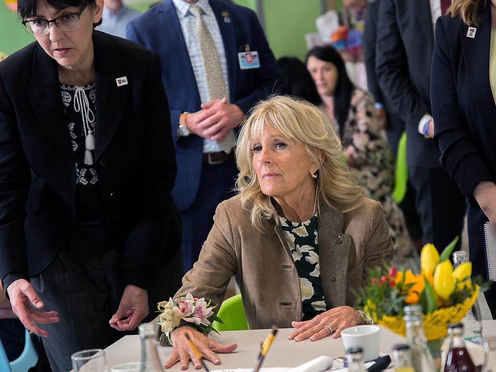
<path fill-rule="evenodd" d="M 105 0 L 102 24 L 97 30 L 125 38 L 125 26 L 140 14 L 139 10 L 125 6 L 122 0 Z"/>

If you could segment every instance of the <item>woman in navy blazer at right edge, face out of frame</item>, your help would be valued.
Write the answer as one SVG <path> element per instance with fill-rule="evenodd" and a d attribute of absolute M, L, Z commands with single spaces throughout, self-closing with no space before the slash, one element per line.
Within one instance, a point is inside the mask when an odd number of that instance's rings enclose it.
<path fill-rule="evenodd" d="M 470 259 L 473 273 L 483 275 L 483 225 L 490 221 L 496 227 L 496 96 L 490 82 L 494 6 L 491 0 L 452 1 L 436 22 L 431 73 L 434 144 L 442 166 L 469 200 Z M 496 79 L 496 70 L 492 74 Z M 494 317 L 494 289 L 486 299 Z"/>

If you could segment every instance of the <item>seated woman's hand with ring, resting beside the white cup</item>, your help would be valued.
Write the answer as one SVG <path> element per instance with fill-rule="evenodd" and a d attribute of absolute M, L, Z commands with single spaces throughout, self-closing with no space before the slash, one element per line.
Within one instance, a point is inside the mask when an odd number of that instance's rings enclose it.
<path fill-rule="evenodd" d="M 310 341 L 317 341 L 331 334 L 332 337 L 338 338 L 343 329 L 363 324 L 363 318 L 357 310 L 349 306 L 340 306 L 324 311 L 313 319 L 294 321 L 291 324 L 296 331 L 290 333 L 288 336 L 290 340 L 303 341 L 310 338 Z"/>

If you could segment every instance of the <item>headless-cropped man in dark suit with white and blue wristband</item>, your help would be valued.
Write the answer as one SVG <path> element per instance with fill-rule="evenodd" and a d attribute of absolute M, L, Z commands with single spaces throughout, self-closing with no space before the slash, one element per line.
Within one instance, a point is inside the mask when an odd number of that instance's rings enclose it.
<path fill-rule="evenodd" d="M 466 210 L 465 196 L 441 168 L 440 152 L 431 138 L 434 22 L 447 5 L 444 0 L 380 0 L 375 55 L 382 92 L 406 125 L 408 173 L 416 192 L 422 240 L 439 252 L 461 236 Z M 457 249 L 460 246 L 461 240 Z"/>

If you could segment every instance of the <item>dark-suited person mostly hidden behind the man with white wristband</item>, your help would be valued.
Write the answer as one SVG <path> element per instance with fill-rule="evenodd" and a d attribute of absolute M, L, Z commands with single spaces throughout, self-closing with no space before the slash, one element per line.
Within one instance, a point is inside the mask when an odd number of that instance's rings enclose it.
<path fill-rule="evenodd" d="M 369 91 L 375 100 L 375 111 L 379 127 L 384 129 L 387 141 L 391 146 L 393 155 L 396 157 L 398 152 L 398 142 L 405 131 L 405 122 L 395 113 L 392 103 L 384 95 L 377 81 L 375 72 L 375 51 L 377 46 L 377 22 L 379 18 L 380 0 L 369 1 L 367 14 L 365 17 L 364 31 L 364 56 L 365 66 L 367 69 L 367 83 Z M 422 225 L 420 216 L 417 213 L 415 205 L 415 189 L 410 180 L 406 185 L 406 193 L 403 200 L 398 204 L 403 211 L 408 235 L 414 242 L 416 249 L 420 252 L 423 247 L 422 243 Z"/>

